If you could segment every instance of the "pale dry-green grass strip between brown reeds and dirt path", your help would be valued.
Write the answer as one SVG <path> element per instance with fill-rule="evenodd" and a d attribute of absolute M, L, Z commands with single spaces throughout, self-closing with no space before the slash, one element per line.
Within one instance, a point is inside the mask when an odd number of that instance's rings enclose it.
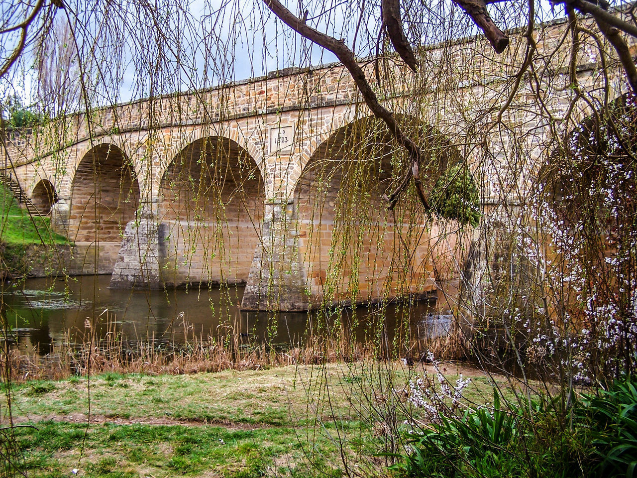
<path fill-rule="evenodd" d="M 374 377 L 370 367 L 336 363 L 196 375 L 105 373 L 90 380 L 90 409 L 99 416 L 168 417 L 201 423 L 290 426 L 299 424 L 301 419 L 313 420 L 317 415 L 356 421 L 365 412 L 361 407 L 373 400 L 369 391 L 387 386 L 370 380 Z M 393 373 L 394 386 L 404 386 L 408 371 L 398 368 Z M 457 372 L 450 370 L 447 377 L 454 383 Z M 466 390 L 469 402 L 485 403 L 492 398 L 489 380 L 480 378 L 476 377 Z M 14 384 L 12 395 L 17 416 L 64 416 L 89 411 L 86 378 Z"/>

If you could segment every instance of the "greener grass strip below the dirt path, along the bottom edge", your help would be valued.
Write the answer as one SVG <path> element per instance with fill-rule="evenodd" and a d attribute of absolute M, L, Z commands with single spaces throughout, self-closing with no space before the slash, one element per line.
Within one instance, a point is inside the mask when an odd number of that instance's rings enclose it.
<path fill-rule="evenodd" d="M 336 453 L 334 444 L 317 443 L 291 428 L 112 423 L 87 428 L 53 421 L 35 426 L 37 430 L 17 430 L 29 477 L 68 476 L 73 468 L 80 476 L 111 478 L 250 478 L 273 473 L 312 477 L 336 470 L 325 458 L 326 453 Z M 318 465 L 316 469 L 310 469 L 314 468 L 310 460 Z"/>

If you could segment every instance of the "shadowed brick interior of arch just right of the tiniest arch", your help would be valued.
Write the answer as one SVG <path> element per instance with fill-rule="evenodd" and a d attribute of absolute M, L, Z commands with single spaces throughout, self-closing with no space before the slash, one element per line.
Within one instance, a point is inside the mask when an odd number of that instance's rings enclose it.
<path fill-rule="evenodd" d="M 137 175 L 122 149 L 106 142 L 89 148 L 71 183 L 69 238 L 118 244 L 139 204 Z"/>

